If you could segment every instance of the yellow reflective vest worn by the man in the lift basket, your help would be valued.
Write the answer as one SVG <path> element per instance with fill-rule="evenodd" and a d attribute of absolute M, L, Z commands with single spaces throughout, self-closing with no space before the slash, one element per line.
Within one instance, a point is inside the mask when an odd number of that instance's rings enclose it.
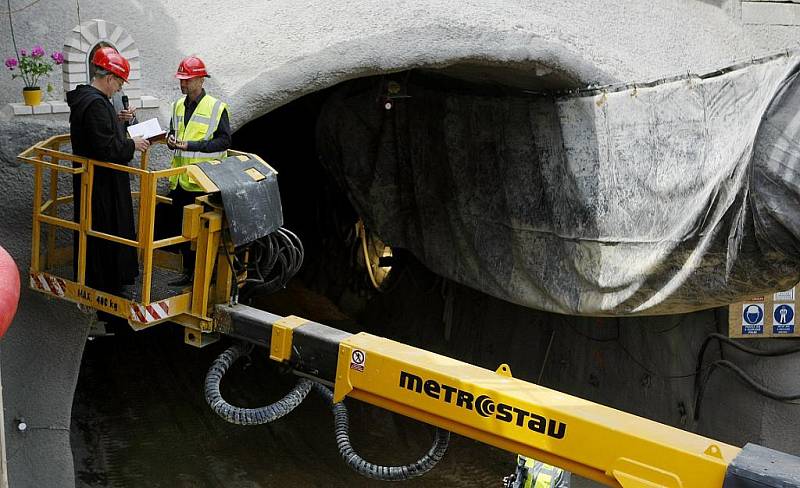
<path fill-rule="evenodd" d="M 222 112 L 227 110 L 228 105 L 212 96 L 206 95 L 195 107 L 189 122 L 185 124 L 185 101 L 186 97 L 183 97 L 172 104 L 172 127 L 175 129 L 175 137 L 179 141 L 210 141 L 219 126 Z M 227 155 L 227 151 L 204 153 L 177 149 L 175 156 L 172 158 L 172 167 L 180 168 L 210 159 L 224 159 Z M 169 177 L 170 190 L 174 190 L 178 183 L 186 191 L 203 191 L 198 185 L 192 183 L 187 173 Z"/>

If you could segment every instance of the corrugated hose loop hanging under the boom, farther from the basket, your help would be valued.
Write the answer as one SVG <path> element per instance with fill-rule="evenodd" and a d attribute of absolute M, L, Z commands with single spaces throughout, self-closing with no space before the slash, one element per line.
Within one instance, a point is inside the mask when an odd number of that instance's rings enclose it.
<path fill-rule="evenodd" d="M 355 452 L 350 444 L 350 424 L 347 407 L 343 402 L 333 403 L 333 392 L 319 383 L 314 383 L 314 390 L 331 404 L 334 416 L 336 445 L 344 462 L 356 473 L 380 481 L 405 481 L 427 473 L 444 457 L 450 443 L 450 432 L 436 428 L 436 437 L 428 452 L 416 462 L 404 466 L 381 466 L 364 460 Z"/>

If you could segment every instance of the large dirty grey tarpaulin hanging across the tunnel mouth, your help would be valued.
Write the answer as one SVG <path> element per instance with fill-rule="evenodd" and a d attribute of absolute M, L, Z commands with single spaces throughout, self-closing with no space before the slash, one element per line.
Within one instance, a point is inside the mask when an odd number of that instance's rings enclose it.
<path fill-rule="evenodd" d="M 435 272 L 568 314 L 723 305 L 800 278 L 798 57 L 572 95 L 343 86 L 318 144 Z"/>

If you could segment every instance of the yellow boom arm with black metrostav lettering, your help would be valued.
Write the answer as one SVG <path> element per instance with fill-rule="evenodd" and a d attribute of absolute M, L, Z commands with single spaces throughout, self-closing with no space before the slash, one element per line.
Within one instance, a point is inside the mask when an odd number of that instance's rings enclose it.
<path fill-rule="evenodd" d="M 335 402 L 349 396 L 607 486 L 800 486 L 794 456 L 750 444 L 742 450 L 527 383 L 513 378 L 507 365 L 490 371 L 242 305 L 220 305 L 216 317 L 220 332 L 266 346 L 273 360 L 333 384 Z M 752 464 L 764 451 L 774 456 L 761 473 L 767 482 L 742 484 L 741 469 L 729 469 L 734 460 Z M 782 469 L 798 477 L 787 478 Z M 780 483 L 769 484 L 773 478 Z"/>

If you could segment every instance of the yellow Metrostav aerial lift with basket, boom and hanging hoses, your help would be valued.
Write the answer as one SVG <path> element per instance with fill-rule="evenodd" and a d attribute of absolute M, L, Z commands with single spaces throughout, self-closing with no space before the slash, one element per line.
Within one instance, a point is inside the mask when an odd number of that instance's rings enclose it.
<path fill-rule="evenodd" d="M 236 345 L 209 370 L 206 398 L 221 417 L 238 424 L 272 421 L 297 406 L 312 388 L 331 401 L 337 415 L 337 444 L 353 467 L 360 459 L 349 446 L 341 416 L 345 397 L 355 398 L 447 431 L 523 454 L 607 486 L 624 488 L 694 487 L 800 487 L 800 458 L 748 444 L 744 449 L 723 444 L 641 417 L 598 405 L 535 384 L 515 379 L 510 367 L 490 371 L 454 359 L 366 333 L 350 334 L 299 317 L 280 317 L 231 300 L 247 278 L 234 269 L 234 246 L 223 237 L 229 225 L 223 207 L 204 197 L 184 208 L 178 236 L 154 240 L 155 206 L 164 198 L 156 194 L 162 178 L 186 168 L 152 171 L 147 155 L 140 168 L 93 161 L 64 152 L 69 136 L 56 136 L 20 154 L 34 165 L 33 247 L 31 288 L 81 306 L 127 319 L 135 329 L 169 321 L 181 324 L 188 343 L 201 346 L 215 334 L 267 349 L 270 358 L 291 368 L 298 387 L 277 402 L 280 408 L 243 409 L 227 404 L 219 394 L 226 369 L 243 354 Z M 252 154 L 232 152 L 240 160 L 254 161 L 256 173 L 271 168 Z M 258 165 L 263 166 L 258 166 Z M 138 177 L 138 239 L 123 239 L 92 230 L 92 177 L 95 167 L 123 171 Z M 44 173 L 50 174 L 45 200 Z M 203 175 L 192 168 L 195 180 Z M 274 171 L 274 170 L 272 170 Z M 61 174 L 80 174 L 83 191 L 79 222 L 64 218 L 59 207 L 72 195 L 58 190 Z M 257 179 L 258 174 L 250 174 Z M 207 189 L 213 181 L 205 182 Z M 75 280 L 55 274 L 69 262 L 72 247 L 63 246 L 54 232 L 41 239 L 42 225 L 66 229 L 78 236 Z M 85 285 L 86 240 L 107 239 L 135 247 L 142 263 L 141 292 L 126 298 Z M 192 242 L 197 249 L 197 269 L 191 290 L 153 299 L 154 270 L 166 263 L 158 255 L 163 247 Z M 246 259 L 246 257 L 245 257 Z M 71 268 L 70 268 L 71 270 Z M 326 386 L 332 387 L 332 391 Z M 337 408 L 338 413 L 337 413 Z M 436 443 L 446 437 L 437 432 Z M 432 448 L 425 462 L 401 468 L 374 468 L 364 463 L 356 469 L 379 479 L 406 479 L 430 469 L 443 455 Z M 360 461 L 359 461 L 360 463 Z M 367 466 L 367 467 L 364 467 Z M 381 477 L 386 473 L 389 477 Z"/>

